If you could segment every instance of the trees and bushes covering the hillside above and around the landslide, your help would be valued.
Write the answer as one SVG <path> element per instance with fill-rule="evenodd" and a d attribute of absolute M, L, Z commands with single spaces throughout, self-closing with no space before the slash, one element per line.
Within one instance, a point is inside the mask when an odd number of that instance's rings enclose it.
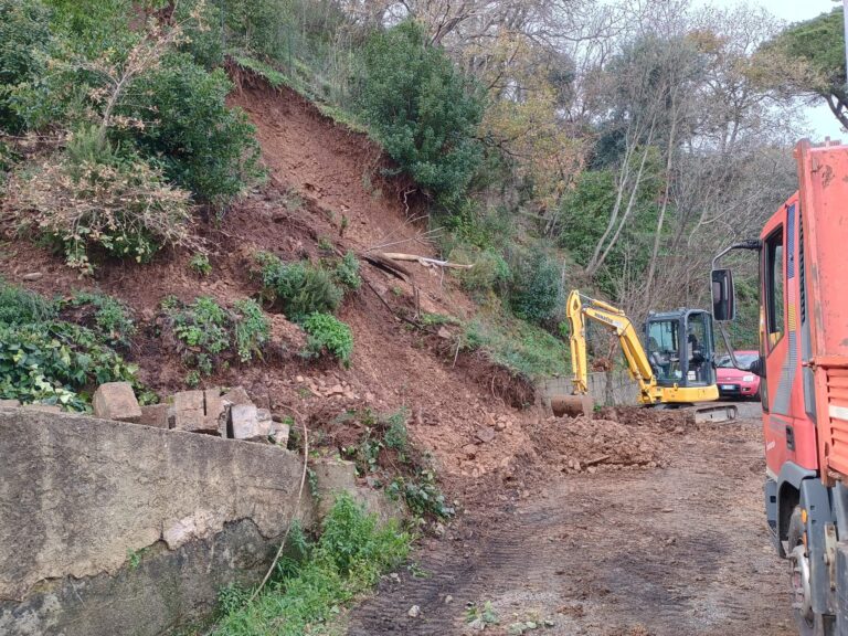
<path fill-rule="evenodd" d="M 237 64 L 378 140 L 481 304 L 553 333 L 573 286 L 637 317 L 703 304 L 716 248 L 792 189 L 793 102 L 759 53 L 780 24 L 686 1 L 437 4 L 4 0 L 3 215 L 83 272 L 202 251 L 195 209 L 225 214 L 263 176 L 225 105 Z"/>

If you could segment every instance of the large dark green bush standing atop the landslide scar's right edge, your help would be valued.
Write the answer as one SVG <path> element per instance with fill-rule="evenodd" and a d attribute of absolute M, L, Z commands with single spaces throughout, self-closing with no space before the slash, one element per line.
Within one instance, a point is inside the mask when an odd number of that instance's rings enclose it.
<path fill-rule="evenodd" d="M 465 190 L 481 157 L 483 103 L 421 25 L 370 38 L 360 95 L 363 119 L 402 170 L 443 201 Z"/>

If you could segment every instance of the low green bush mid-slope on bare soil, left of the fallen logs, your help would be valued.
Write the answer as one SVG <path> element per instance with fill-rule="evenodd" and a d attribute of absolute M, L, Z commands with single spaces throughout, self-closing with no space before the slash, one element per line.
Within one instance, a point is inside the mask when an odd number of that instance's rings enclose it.
<path fill-rule="evenodd" d="M 344 297 L 332 275 L 308 261 L 283 263 L 267 252 L 256 254 L 258 277 L 267 300 L 278 304 L 296 322 L 310 314 L 332 314 Z"/>

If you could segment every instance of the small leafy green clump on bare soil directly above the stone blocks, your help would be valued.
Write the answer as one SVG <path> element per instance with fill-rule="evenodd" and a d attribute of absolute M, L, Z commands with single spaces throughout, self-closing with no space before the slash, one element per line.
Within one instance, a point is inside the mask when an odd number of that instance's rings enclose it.
<path fill-rule="evenodd" d="M 232 360 L 250 362 L 262 357 L 271 340 L 271 322 L 255 300 L 245 299 L 226 309 L 213 298 L 201 296 L 183 304 L 174 297 L 162 301 L 183 362 L 200 374 L 210 375 Z M 190 371 L 192 383 L 200 381 Z"/>

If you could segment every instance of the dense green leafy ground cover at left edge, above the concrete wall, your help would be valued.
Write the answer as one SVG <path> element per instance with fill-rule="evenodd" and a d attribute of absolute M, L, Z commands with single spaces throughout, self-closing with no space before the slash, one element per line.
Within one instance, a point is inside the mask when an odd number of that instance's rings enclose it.
<path fill-rule="evenodd" d="M 54 304 L 0 280 L 0 398 L 88 409 L 94 388 L 136 380 L 107 338 L 59 320 Z"/>

